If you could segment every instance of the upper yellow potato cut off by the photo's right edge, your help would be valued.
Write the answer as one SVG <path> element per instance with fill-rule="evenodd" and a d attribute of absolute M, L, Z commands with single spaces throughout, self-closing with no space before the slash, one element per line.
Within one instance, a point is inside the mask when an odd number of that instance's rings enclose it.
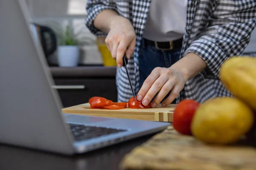
<path fill-rule="evenodd" d="M 228 59 L 221 66 L 220 79 L 234 96 L 256 110 L 256 58 Z"/>

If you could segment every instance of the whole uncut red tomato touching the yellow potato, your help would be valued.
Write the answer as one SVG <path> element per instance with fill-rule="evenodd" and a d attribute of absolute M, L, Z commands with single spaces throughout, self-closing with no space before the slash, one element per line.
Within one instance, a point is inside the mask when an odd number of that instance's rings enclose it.
<path fill-rule="evenodd" d="M 182 100 L 173 113 L 172 125 L 179 133 L 191 135 L 190 124 L 200 104 L 195 100 Z"/>

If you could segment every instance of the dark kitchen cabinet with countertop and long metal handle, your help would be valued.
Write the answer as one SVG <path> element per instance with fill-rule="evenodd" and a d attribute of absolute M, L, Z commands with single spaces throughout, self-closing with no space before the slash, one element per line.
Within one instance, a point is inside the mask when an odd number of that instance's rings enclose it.
<path fill-rule="evenodd" d="M 117 101 L 116 67 L 81 66 L 76 68 L 50 67 L 63 107 L 88 102 L 101 96 Z"/>

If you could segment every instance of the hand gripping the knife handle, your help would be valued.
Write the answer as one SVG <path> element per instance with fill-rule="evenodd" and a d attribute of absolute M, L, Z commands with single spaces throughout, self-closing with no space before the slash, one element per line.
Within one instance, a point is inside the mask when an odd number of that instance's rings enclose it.
<path fill-rule="evenodd" d="M 121 16 L 113 17 L 105 43 L 112 57 L 116 59 L 117 66 L 121 68 L 122 57 L 126 54 L 129 59 L 136 45 L 136 35 L 131 22 Z"/>

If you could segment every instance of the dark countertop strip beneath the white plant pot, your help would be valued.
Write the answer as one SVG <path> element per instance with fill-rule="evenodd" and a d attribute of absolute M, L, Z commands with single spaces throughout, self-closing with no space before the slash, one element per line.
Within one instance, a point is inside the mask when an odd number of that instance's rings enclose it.
<path fill-rule="evenodd" d="M 49 67 L 53 77 L 116 77 L 116 67 Z"/>

